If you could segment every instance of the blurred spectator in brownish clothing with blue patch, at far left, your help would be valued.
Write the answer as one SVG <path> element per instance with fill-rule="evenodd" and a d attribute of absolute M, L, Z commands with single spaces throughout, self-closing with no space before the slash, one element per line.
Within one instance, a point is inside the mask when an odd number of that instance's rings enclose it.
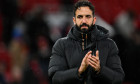
<path fill-rule="evenodd" d="M 10 84 L 21 84 L 23 69 L 27 61 L 28 47 L 24 41 L 25 23 L 16 21 L 12 31 L 12 40 L 9 43 L 11 56 L 11 81 Z"/>

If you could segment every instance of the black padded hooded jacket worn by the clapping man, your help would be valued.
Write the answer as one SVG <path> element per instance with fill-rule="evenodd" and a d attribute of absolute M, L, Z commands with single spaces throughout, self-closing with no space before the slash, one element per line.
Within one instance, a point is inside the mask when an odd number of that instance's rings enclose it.
<path fill-rule="evenodd" d="M 82 37 L 83 35 L 83 37 Z M 75 26 L 72 27 L 67 37 L 57 40 L 52 49 L 49 63 L 49 76 L 53 84 L 121 84 L 124 72 L 118 56 L 118 48 L 113 40 L 108 38 L 108 31 L 101 26 L 94 25 L 84 40 L 82 49 L 81 34 Z M 99 50 L 101 64 L 100 73 L 96 74 L 92 67 L 88 67 L 78 76 L 78 68 L 85 54 L 92 50 Z M 93 53 L 94 54 L 94 53 Z"/>

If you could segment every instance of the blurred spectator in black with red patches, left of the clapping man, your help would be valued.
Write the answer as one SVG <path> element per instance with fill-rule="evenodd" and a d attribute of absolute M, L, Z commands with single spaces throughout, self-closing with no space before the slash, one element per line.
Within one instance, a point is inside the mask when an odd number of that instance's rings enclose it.
<path fill-rule="evenodd" d="M 44 20 L 44 10 L 36 7 L 28 18 L 26 37 L 29 45 L 28 60 L 25 64 L 23 84 L 48 84 L 48 62 L 53 41 L 50 28 Z"/>

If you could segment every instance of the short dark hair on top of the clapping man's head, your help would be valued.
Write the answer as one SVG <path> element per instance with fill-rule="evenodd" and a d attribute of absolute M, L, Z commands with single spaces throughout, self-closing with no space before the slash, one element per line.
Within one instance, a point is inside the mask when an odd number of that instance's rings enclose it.
<path fill-rule="evenodd" d="M 87 7 L 89 7 L 90 8 L 90 10 L 92 11 L 92 14 L 93 14 L 93 16 L 94 16 L 94 12 L 95 12 L 95 9 L 94 9 L 94 6 L 92 5 L 92 3 L 91 2 L 89 2 L 88 0 L 86 1 L 86 0 L 79 0 L 77 3 L 75 3 L 75 5 L 74 5 L 74 9 L 73 9 L 73 12 L 74 12 L 74 17 L 75 17 L 75 12 L 76 12 L 76 10 L 79 8 L 79 7 L 85 7 L 85 6 L 87 6 Z"/>

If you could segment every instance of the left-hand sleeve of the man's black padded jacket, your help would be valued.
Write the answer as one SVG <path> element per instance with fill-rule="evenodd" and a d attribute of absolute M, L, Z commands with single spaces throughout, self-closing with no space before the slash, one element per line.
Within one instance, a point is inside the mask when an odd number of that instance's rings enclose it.
<path fill-rule="evenodd" d="M 53 46 L 48 74 L 53 84 L 72 84 L 74 81 L 81 80 L 78 77 L 78 67 L 68 68 L 62 39 L 58 40 Z"/>

